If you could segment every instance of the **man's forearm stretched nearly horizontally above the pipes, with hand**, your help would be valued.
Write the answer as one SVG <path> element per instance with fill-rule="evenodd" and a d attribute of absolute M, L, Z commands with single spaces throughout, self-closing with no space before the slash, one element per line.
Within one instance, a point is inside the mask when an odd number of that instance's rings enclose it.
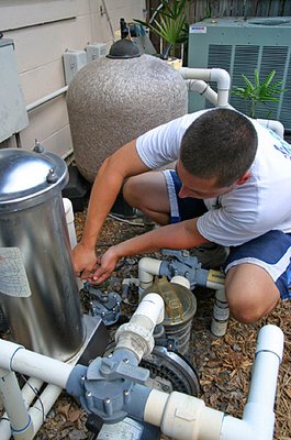
<path fill-rule="evenodd" d="M 99 267 L 89 280 L 98 284 L 102 283 L 111 275 L 116 263 L 123 256 L 154 252 L 165 248 L 189 249 L 203 243 L 209 243 L 209 241 L 199 233 L 197 219 L 167 224 L 111 246 L 99 260 Z"/>

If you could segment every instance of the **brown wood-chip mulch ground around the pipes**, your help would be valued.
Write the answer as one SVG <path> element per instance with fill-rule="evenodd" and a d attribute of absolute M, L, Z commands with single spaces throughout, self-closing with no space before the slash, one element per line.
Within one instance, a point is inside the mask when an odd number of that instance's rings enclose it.
<path fill-rule="evenodd" d="M 77 212 L 76 231 L 81 237 L 86 210 Z M 114 243 L 143 233 L 136 227 L 108 219 L 99 242 L 99 252 Z M 153 255 L 152 255 L 153 256 Z M 156 254 L 154 257 L 157 256 Z M 138 256 L 125 260 L 120 271 L 113 274 L 115 279 L 136 276 Z M 116 284 L 116 283 L 115 283 Z M 116 284 L 117 285 L 117 284 Z M 101 286 L 107 289 L 107 285 Z M 284 358 L 280 366 L 276 398 L 275 440 L 291 439 L 291 314 L 290 301 L 282 301 L 269 316 L 255 324 L 242 324 L 230 319 L 228 329 L 223 338 L 210 332 L 213 309 L 213 293 L 200 289 L 197 293 L 198 309 L 192 320 L 191 343 L 188 358 L 197 369 L 201 384 L 201 397 L 212 408 L 240 418 L 247 400 L 251 364 L 259 329 L 266 323 L 279 326 L 284 332 Z M 124 305 L 123 305 L 124 307 Z M 128 314 L 128 307 L 125 307 Z M 111 331 L 114 332 L 111 329 Z M 90 439 L 85 427 L 87 416 L 78 404 L 63 393 L 38 431 L 36 439 Z M 246 439 L 247 440 L 247 439 Z"/>

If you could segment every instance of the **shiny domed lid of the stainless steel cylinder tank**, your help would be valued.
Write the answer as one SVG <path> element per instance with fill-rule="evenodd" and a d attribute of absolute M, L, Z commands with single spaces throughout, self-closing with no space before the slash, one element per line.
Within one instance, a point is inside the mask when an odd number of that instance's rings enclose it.
<path fill-rule="evenodd" d="M 0 207 L 64 187 L 67 165 L 53 153 L 0 150 Z"/>

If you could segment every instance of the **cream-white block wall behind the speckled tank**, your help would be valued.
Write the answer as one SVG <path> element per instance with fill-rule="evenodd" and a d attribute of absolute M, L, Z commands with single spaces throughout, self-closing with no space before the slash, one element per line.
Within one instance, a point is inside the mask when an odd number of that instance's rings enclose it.
<path fill-rule="evenodd" d="M 104 13 L 104 6 L 108 15 Z M 63 88 L 63 54 L 105 43 L 109 51 L 120 19 L 144 19 L 145 0 L 4 0 L 0 2 L 0 31 L 12 38 L 25 105 Z M 111 26 L 110 26 L 111 24 Z M 1 85 L 0 85 L 1 87 Z M 20 132 L 23 148 L 35 139 L 65 156 L 71 148 L 65 95 L 29 112 L 30 124 Z M 15 146 L 14 136 L 10 146 Z"/>

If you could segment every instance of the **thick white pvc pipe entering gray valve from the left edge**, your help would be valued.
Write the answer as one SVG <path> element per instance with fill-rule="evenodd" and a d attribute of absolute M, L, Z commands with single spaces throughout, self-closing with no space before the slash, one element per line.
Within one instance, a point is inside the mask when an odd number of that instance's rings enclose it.
<path fill-rule="evenodd" d="M 38 377 L 43 382 L 66 388 L 72 366 L 25 350 L 14 342 L 0 340 L 0 367 L 16 371 L 26 376 Z"/>

